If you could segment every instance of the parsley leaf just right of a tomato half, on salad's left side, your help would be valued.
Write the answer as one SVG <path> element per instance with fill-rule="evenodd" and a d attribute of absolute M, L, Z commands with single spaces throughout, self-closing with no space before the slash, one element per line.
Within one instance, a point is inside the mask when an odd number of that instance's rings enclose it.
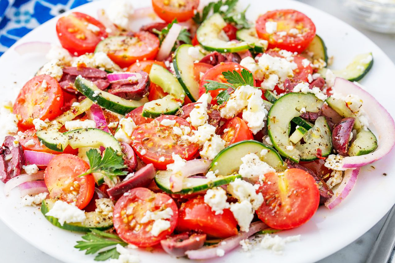
<path fill-rule="evenodd" d="M 122 171 L 126 168 L 122 154 L 111 147 L 105 148 L 103 157 L 96 149 L 90 149 L 87 152 L 90 168 L 88 171 L 79 176 L 88 175 L 90 173 L 102 173 L 104 176 L 112 178 L 118 175 L 126 175 L 127 171 Z"/>

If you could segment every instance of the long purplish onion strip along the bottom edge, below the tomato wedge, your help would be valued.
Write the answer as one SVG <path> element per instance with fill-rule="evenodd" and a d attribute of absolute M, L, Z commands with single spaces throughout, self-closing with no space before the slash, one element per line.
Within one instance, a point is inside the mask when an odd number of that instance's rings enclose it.
<path fill-rule="evenodd" d="M 218 249 L 224 250 L 226 254 L 229 251 L 237 248 L 241 240 L 246 239 L 265 228 L 267 228 L 267 225 L 265 223 L 254 222 L 250 225 L 250 230 L 248 232 L 240 231 L 239 234 L 233 237 L 228 237 L 227 239 L 222 240 L 222 242 L 216 245 L 206 246 L 198 250 L 188 250 L 187 252 L 185 252 L 185 254 L 188 256 L 189 259 L 210 259 L 218 257 Z"/>

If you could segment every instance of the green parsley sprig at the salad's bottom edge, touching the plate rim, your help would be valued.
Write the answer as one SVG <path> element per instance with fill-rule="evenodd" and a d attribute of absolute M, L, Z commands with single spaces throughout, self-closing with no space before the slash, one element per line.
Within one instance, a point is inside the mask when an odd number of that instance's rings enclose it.
<path fill-rule="evenodd" d="M 122 241 L 122 239 L 120 239 L 120 237 L 117 235 L 106 233 L 97 229 L 90 229 L 90 231 L 91 232 L 88 232 L 86 235 L 82 236 L 82 238 L 85 240 L 77 241 L 78 244 L 74 246 L 79 250 L 86 250 L 85 254 L 95 254 L 103 248 L 116 246 L 117 244 L 120 244 L 121 246 L 126 246 L 128 244 Z M 114 247 L 99 252 L 95 257 L 95 260 L 104 261 L 109 258 L 117 259 L 118 257 L 119 253 Z"/>

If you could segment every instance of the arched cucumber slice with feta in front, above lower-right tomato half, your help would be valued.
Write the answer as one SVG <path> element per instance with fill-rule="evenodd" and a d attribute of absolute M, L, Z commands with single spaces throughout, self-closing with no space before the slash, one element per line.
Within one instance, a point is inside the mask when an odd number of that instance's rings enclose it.
<path fill-rule="evenodd" d="M 262 150 L 267 150 L 266 154 L 261 155 Z M 209 171 L 215 171 L 217 175 L 231 175 L 239 171 L 243 163 L 241 158 L 246 154 L 254 153 L 259 158 L 273 167 L 276 171 L 282 172 L 287 168 L 278 152 L 259 141 L 245 140 L 229 145 L 220 151 L 211 162 Z"/>

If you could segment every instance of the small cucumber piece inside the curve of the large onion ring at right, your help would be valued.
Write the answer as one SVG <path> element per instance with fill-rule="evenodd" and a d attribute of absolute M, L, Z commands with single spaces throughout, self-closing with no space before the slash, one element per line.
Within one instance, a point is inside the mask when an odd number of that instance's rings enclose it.
<path fill-rule="evenodd" d="M 349 156 L 360 156 L 368 154 L 376 150 L 377 138 L 374 136 L 371 130 L 361 129 L 357 133 L 357 138 L 352 142 L 350 148 L 348 148 Z"/>

